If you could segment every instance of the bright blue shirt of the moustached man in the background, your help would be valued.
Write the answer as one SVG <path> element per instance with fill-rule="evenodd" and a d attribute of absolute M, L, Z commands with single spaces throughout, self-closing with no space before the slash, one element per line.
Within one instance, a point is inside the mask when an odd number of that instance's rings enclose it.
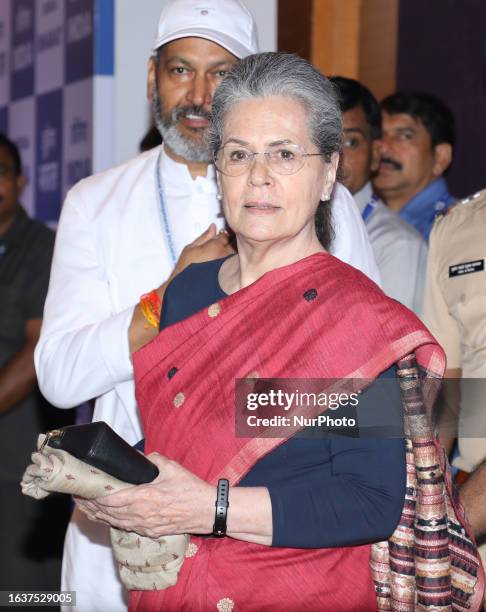
<path fill-rule="evenodd" d="M 409 200 L 398 215 L 413 225 L 428 241 L 435 215 L 449 208 L 455 201 L 456 198 L 449 193 L 447 183 L 439 177 Z"/>

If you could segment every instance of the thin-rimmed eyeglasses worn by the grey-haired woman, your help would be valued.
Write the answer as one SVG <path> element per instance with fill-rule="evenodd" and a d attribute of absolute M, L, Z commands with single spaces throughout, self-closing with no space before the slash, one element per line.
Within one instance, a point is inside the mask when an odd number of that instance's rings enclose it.
<path fill-rule="evenodd" d="M 304 165 L 306 157 L 321 156 L 321 153 L 306 153 L 294 143 L 272 145 L 263 153 L 255 153 L 238 144 L 227 144 L 216 152 L 214 165 L 222 174 L 240 176 L 253 166 L 257 155 L 263 155 L 277 174 L 295 174 Z"/>

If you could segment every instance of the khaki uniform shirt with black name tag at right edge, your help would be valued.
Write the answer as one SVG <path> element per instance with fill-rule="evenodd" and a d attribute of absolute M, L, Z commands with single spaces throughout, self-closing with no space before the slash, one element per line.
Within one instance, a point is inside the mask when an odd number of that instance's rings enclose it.
<path fill-rule="evenodd" d="M 434 224 L 423 319 L 446 352 L 447 368 L 462 369 L 454 465 L 472 472 L 486 457 L 486 189 Z"/>

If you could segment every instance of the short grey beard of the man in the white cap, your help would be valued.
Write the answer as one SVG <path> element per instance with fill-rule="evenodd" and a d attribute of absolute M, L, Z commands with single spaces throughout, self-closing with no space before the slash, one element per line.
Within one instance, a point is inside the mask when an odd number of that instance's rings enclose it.
<path fill-rule="evenodd" d="M 199 162 L 208 164 L 211 161 L 209 147 L 205 138 L 200 141 L 192 140 L 183 136 L 177 127 L 178 119 L 184 115 L 197 115 L 210 118 L 210 114 L 201 106 L 176 106 L 169 117 L 165 116 L 164 108 L 159 97 L 157 87 L 154 85 L 152 92 L 152 112 L 155 125 L 166 144 L 173 153 L 188 162 Z M 201 128 L 202 130 L 202 128 Z M 204 129 L 204 131 L 206 131 Z"/>

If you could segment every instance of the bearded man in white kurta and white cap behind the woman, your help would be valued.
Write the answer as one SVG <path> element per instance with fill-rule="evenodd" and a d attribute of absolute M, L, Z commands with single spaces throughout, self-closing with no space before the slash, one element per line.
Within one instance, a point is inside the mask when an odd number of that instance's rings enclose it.
<path fill-rule="evenodd" d="M 128 342 L 134 309 L 143 293 L 169 277 L 174 257 L 187 243 L 210 223 L 218 228 L 224 223 L 214 169 L 200 155 L 205 107 L 214 91 L 212 81 L 201 90 L 202 77 L 212 69 L 208 58 L 217 46 L 223 60 L 228 52 L 237 61 L 257 50 L 255 24 L 242 5 L 206 0 L 204 6 L 171 0 L 161 15 L 155 49 L 165 54 L 158 69 L 162 77 L 168 71 L 169 86 L 164 89 L 167 80 L 161 78 L 152 96 L 160 97 L 156 119 L 165 144 L 84 179 L 66 198 L 36 349 L 44 395 L 61 408 L 96 398 L 94 420 L 106 421 L 131 444 L 143 437 Z M 182 64 L 167 57 L 176 43 Z M 207 45 L 208 53 L 191 55 L 193 43 L 198 50 Z M 179 77 L 182 84 L 174 84 Z M 180 98 L 180 113 L 169 112 L 174 96 Z M 192 171 L 194 161 L 199 170 L 205 167 L 204 174 Z M 336 189 L 333 217 L 334 254 L 378 280 L 359 212 L 342 186 Z M 108 528 L 76 510 L 66 535 L 62 588 L 77 592 L 81 612 L 126 609 Z"/>

